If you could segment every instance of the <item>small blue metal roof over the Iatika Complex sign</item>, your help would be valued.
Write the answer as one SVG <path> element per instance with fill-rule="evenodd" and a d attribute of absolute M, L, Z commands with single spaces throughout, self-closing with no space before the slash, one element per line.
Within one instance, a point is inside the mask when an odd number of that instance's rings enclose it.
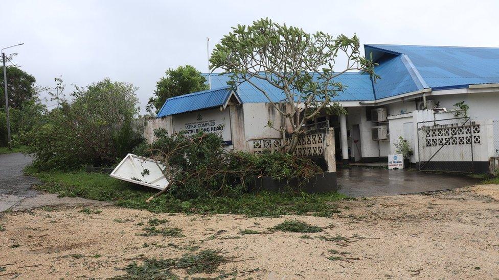
<path fill-rule="evenodd" d="M 231 97 L 232 92 L 233 90 L 230 87 L 225 86 L 212 90 L 171 97 L 166 100 L 156 117 L 160 118 L 174 114 L 223 106 Z"/>

